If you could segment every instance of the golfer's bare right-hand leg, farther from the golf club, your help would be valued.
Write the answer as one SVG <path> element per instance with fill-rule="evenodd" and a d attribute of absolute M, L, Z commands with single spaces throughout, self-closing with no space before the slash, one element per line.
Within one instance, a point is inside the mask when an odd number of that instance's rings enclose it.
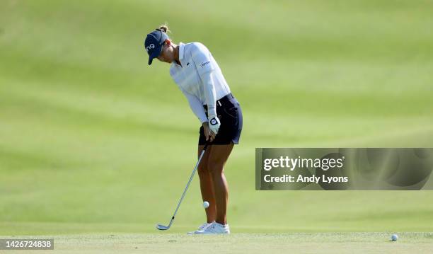
<path fill-rule="evenodd" d="M 217 219 L 219 224 L 227 224 L 226 212 L 229 202 L 229 185 L 224 175 L 224 165 L 229 158 L 233 144 L 212 145 L 208 167 L 214 184 L 214 197 L 217 202 Z"/>

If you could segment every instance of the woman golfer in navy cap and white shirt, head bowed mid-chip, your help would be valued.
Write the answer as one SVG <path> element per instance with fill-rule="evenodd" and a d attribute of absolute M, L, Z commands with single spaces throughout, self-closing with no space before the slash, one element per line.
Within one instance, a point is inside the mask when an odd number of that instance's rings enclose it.
<path fill-rule="evenodd" d="M 205 209 L 207 223 L 190 233 L 230 233 L 226 219 L 229 187 L 224 165 L 233 144 L 238 144 L 241 137 L 241 107 L 207 47 L 200 42 L 175 45 L 168 31 L 167 25 L 161 25 L 146 36 L 144 46 L 149 54 L 149 65 L 154 58 L 171 64 L 171 77 L 202 123 L 199 155 L 209 142 L 198 167 L 202 198 L 209 202 Z"/>

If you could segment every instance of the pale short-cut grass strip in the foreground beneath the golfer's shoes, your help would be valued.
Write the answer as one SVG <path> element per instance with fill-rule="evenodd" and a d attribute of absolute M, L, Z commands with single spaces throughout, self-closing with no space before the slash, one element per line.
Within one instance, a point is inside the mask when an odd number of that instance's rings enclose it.
<path fill-rule="evenodd" d="M 54 238 L 47 253 L 431 253 L 432 233 L 237 233 L 230 236 L 185 234 L 85 234 Z M 14 236 L 19 238 L 20 236 Z M 25 238 L 25 237 L 24 237 Z M 28 253 L 28 250 L 14 250 Z"/>

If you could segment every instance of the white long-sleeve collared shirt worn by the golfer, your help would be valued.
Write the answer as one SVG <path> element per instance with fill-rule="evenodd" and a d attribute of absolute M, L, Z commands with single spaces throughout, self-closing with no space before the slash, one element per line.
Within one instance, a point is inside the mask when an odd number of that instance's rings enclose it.
<path fill-rule="evenodd" d="M 200 122 L 206 122 L 203 105 L 208 115 L 216 115 L 216 101 L 230 93 L 229 85 L 211 52 L 200 42 L 179 43 L 180 64 L 173 62 L 170 75 L 183 92 L 192 112 Z"/>

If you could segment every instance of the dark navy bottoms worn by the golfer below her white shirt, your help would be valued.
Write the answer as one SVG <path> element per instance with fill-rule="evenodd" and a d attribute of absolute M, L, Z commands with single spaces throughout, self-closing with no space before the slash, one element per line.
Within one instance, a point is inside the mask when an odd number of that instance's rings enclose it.
<path fill-rule="evenodd" d="M 207 105 L 204 105 L 207 116 Z M 217 100 L 217 115 L 221 126 L 212 144 L 239 144 L 242 132 L 242 110 L 238 100 L 229 93 Z M 203 127 L 200 127 L 199 145 L 206 144 Z"/>

